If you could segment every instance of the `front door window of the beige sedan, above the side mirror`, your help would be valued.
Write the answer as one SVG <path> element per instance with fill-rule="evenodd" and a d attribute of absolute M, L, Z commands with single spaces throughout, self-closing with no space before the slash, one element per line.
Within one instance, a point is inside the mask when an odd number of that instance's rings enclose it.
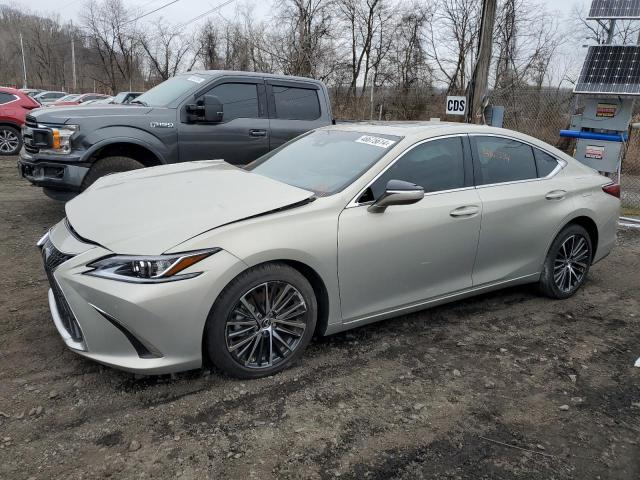
<path fill-rule="evenodd" d="M 464 187 L 462 138 L 432 140 L 407 151 L 371 185 L 371 200 L 384 193 L 389 180 L 415 183 L 425 192 Z"/>

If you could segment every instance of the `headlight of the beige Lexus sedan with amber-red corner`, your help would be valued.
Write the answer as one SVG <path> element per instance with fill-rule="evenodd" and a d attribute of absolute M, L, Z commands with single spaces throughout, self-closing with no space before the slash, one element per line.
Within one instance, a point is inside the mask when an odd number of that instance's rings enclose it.
<path fill-rule="evenodd" d="M 202 272 L 180 273 L 187 267 L 219 252 L 219 248 L 197 250 L 175 255 L 129 256 L 113 255 L 87 265 L 85 275 L 132 283 L 162 283 L 184 280 Z"/>

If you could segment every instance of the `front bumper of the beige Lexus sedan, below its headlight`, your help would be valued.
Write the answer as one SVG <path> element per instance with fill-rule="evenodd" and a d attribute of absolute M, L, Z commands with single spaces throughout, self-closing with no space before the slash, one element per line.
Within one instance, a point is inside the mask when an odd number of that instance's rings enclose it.
<path fill-rule="evenodd" d="M 63 341 L 80 355 L 135 373 L 199 368 L 211 306 L 246 268 L 223 250 L 190 267 L 203 272 L 197 277 L 161 284 L 124 283 L 83 275 L 87 263 L 113 252 L 76 239 L 64 221 L 50 231 L 47 241 L 47 248 L 69 256 L 49 275 L 49 306 Z M 46 264 L 47 253 L 43 256 Z M 54 293 L 56 287 L 59 294 Z M 69 327 L 65 304 L 79 334 Z"/>

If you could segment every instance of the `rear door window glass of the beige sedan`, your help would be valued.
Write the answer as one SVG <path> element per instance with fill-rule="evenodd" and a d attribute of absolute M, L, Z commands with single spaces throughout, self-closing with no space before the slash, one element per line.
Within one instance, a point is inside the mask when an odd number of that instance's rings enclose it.
<path fill-rule="evenodd" d="M 478 185 L 537 178 L 533 149 L 516 140 L 501 137 L 472 137 L 479 172 Z M 477 169 L 478 170 L 478 169 Z"/>

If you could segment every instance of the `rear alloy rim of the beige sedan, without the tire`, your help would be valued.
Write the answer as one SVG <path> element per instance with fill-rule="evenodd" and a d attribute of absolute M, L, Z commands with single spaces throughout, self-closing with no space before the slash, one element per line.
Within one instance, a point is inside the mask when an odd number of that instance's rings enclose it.
<path fill-rule="evenodd" d="M 562 242 L 553 262 L 553 281 L 564 293 L 570 293 L 582 283 L 591 252 L 582 235 L 571 235 Z"/>

